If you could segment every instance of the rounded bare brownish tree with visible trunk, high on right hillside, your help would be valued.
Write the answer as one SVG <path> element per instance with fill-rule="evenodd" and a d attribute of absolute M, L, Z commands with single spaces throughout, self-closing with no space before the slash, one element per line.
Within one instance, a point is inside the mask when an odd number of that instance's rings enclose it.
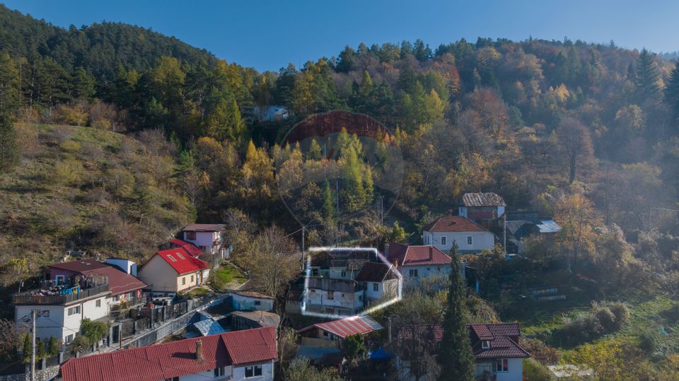
<path fill-rule="evenodd" d="M 569 168 L 569 184 L 576 178 L 576 168 L 582 168 L 593 158 L 592 139 L 589 129 L 579 120 L 567 117 L 557 129 L 557 141 L 566 156 Z"/>

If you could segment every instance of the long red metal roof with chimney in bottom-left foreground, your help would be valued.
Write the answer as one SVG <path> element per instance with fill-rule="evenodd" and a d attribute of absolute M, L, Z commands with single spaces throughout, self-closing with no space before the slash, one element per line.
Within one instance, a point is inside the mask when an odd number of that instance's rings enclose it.
<path fill-rule="evenodd" d="M 199 340 L 202 361 L 195 358 Z M 265 327 L 72 358 L 60 373 L 64 381 L 158 381 L 277 358 L 276 329 Z"/>

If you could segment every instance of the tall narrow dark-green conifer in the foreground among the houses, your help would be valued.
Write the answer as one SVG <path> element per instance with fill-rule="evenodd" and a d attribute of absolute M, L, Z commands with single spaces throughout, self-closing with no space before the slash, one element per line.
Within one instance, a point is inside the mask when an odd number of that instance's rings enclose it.
<path fill-rule="evenodd" d="M 443 339 L 439 347 L 438 361 L 441 365 L 441 380 L 472 381 L 474 356 L 465 324 L 465 286 L 462 267 L 458 257 L 458 246 L 453 242 L 451 250 L 451 286 L 448 288 L 448 304 L 443 317 Z"/>

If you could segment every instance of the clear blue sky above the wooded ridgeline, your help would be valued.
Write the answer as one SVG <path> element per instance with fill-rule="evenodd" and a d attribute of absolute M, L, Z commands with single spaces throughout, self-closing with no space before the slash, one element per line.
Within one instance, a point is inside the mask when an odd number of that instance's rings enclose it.
<path fill-rule="evenodd" d="M 365 3 L 365 4 L 363 4 Z M 532 35 L 679 50 L 679 1 L 149 1 L 9 0 L 54 25 L 120 21 L 174 35 L 217 57 L 278 70 L 339 54 L 344 45 L 421 38 L 435 48 L 465 37 Z"/>

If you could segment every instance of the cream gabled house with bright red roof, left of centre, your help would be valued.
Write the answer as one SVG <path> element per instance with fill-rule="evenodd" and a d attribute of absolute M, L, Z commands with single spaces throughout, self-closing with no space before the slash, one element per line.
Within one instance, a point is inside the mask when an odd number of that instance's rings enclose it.
<path fill-rule="evenodd" d="M 161 250 L 139 269 L 139 279 L 149 285 L 153 296 L 175 295 L 207 281 L 209 264 L 182 248 Z"/>

